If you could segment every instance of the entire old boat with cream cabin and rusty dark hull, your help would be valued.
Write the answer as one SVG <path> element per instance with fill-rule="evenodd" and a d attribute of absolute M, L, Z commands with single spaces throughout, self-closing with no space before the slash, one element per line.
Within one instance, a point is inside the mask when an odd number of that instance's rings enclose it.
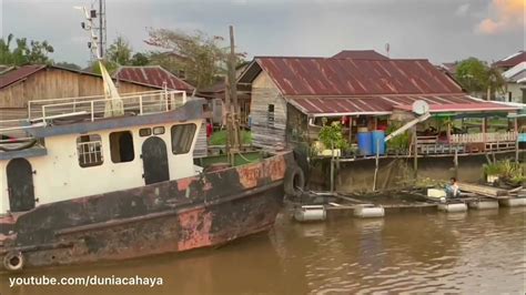
<path fill-rule="evenodd" d="M 181 91 L 30 102 L 24 126 L 0 130 L 4 271 L 183 252 L 271 228 L 302 176 L 293 154 L 195 165 L 204 105 Z"/>

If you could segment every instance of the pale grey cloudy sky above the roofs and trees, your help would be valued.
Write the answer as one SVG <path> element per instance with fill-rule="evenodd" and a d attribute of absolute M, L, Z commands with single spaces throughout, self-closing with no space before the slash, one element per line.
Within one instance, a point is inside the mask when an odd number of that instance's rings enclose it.
<path fill-rule="evenodd" d="M 85 65 L 88 35 L 74 6 L 98 0 L 0 0 L 3 37 L 48 40 L 54 61 Z M 108 41 L 124 35 L 134 51 L 148 28 L 227 37 L 254 55 L 331 57 L 374 49 L 434 63 L 476 57 L 492 62 L 524 50 L 525 0 L 107 0 Z M 226 45 L 226 44 L 225 44 Z"/>

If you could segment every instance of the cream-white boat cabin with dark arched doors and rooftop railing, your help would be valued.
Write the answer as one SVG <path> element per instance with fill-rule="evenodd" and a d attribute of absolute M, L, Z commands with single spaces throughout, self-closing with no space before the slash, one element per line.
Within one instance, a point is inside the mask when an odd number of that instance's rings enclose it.
<path fill-rule="evenodd" d="M 183 91 L 30 102 L 0 122 L 0 214 L 196 175 L 204 105 Z"/>

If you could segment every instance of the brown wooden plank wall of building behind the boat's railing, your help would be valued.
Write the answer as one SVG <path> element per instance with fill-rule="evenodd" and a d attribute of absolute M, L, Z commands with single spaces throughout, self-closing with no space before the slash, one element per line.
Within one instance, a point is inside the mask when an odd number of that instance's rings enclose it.
<path fill-rule="evenodd" d="M 129 82 L 120 82 L 119 92 L 156 90 Z M 0 90 L 0 109 L 27 108 L 28 101 L 103 94 L 102 78 L 48 68 Z"/>

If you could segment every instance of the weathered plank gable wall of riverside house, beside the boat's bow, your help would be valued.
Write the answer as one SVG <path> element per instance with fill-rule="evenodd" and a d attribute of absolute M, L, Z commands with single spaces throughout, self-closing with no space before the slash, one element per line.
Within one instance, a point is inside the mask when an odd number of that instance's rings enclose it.
<path fill-rule="evenodd" d="M 269 124 L 269 104 L 274 104 L 274 124 Z M 251 101 L 252 143 L 275 149 L 285 146 L 286 102 L 265 72 L 252 83 Z"/>

